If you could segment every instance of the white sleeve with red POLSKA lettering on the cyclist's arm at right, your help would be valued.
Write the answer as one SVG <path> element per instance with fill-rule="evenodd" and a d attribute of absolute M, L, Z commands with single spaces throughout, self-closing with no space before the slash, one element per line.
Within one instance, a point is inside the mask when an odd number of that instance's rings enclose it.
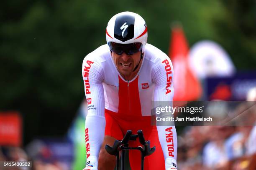
<path fill-rule="evenodd" d="M 168 56 L 156 62 L 151 72 L 155 84 L 154 101 L 166 101 L 172 107 L 174 96 L 173 67 Z M 158 105 L 159 106 L 159 105 Z M 159 142 L 164 153 L 165 168 L 177 167 L 177 133 L 174 122 L 168 125 L 157 125 Z"/>

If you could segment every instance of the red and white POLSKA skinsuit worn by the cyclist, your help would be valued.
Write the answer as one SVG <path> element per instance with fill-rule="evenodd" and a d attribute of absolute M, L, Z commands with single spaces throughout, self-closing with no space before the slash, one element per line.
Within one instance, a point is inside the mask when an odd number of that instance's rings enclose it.
<path fill-rule="evenodd" d="M 133 80 L 126 81 L 118 72 L 108 45 L 102 45 L 83 61 L 82 76 L 88 103 L 85 123 L 87 164 L 97 168 L 104 135 L 118 140 L 127 130 L 143 130 L 156 151 L 145 158 L 146 170 L 176 167 L 177 134 L 175 126 L 151 125 L 152 101 L 170 101 L 174 96 L 173 67 L 169 57 L 146 44 L 141 67 Z M 138 146 L 131 141 L 130 146 Z M 137 150 L 129 151 L 132 170 L 140 170 Z M 90 162 L 89 162 L 90 161 Z"/>

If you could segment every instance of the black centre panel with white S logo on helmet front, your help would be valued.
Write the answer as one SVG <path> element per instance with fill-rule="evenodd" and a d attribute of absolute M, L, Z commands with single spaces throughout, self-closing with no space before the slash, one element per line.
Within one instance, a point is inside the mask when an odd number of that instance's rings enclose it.
<path fill-rule="evenodd" d="M 135 18 L 132 15 L 121 15 L 115 19 L 114 37 L 120 41 L 131 40 L 134 37 Z"/>

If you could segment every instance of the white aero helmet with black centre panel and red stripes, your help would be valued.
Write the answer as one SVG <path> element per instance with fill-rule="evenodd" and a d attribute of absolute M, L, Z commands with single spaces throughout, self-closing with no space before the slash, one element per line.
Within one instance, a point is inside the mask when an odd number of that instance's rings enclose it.
<path fill-rule="evenodd" d="M 142 52 L 148 40 L 148 27 L 145 20 L 138 14 L 123 12 L 114 15 L 106 28 L 107 43 L 131 44 L 140 42 Z"/>

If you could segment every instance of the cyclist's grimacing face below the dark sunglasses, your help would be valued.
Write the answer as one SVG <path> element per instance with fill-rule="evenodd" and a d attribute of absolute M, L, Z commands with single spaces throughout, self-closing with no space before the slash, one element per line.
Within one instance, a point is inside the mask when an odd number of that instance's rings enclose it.
<path fill-rule="evenodd" d="M 136 52 L 133 55 L 127 55 L 125 52 L 118 55 L 112 52 L 112 58 L 121 75 L 131 76 L 131 73 L 141 59 L 141 52 Z"/>

